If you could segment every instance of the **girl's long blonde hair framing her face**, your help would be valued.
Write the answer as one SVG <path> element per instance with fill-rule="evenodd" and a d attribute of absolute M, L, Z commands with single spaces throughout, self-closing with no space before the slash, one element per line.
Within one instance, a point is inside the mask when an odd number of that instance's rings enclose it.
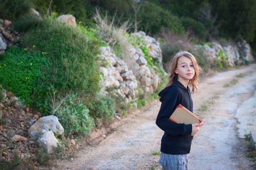
<path fill-rule="evenodd" d="M 195 56 L 188 51 L 178 51 L 177 54 L 173 57 L 170 67 L 170 76 L 168 78 L 166 86 L 171 85 L 175 80 L 178 79 L 178 75 L 175 73 L 175 70 L 177 68 L 178 59 L 182 56 L 189 58 L 192 61 L 195 69 L 195 76 L 189 81 L 189 85 L 191 85 L 192 87 L 191 93 L 194 93 L 195 90 L 198 88 L 198 76 L 201 68 L 198 66 Z"/>

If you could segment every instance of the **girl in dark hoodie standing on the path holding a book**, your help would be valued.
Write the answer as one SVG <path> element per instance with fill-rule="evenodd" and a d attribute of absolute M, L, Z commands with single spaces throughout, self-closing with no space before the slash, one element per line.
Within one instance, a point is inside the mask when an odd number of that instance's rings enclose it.
<path fill-rule="evenodd" d="M 163 170 L 187 170 L 187 154 L 190 152 L 193 136 L 202 124 L 175 123 L 169 118 L 178 104 L 193 112 L 191 93 L 198 87 L 200 69 L 191 53 L 179 51 L 173 58 L 167 85 L 158 94 L 162 103 L 156 124 L 164 131 L 159 159 Z M 192 87 L 192 91 L 188 85 Z"/>

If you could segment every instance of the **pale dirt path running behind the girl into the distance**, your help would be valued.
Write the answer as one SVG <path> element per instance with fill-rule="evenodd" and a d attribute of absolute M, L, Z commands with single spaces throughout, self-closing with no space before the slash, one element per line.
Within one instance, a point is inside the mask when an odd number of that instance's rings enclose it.
<path fill-rule="evenodd" d="M 239 75 L 239 76 L 237 76 Z M 220 72 L 202 81 L 193 96 L 203 127 L 193 140 L 189 170 L 251 170 L 237 138 L 240 103 L 256 89 L 256 65 Z M 73 160 L 57 161 L 58 170 L 149 170 L 157 165 L 162 131 L 155 124 L 160 102 L 123 120 L 97 146 L 86 146 Z M 53 168 L 55 169 L 55 168 Z"/>

